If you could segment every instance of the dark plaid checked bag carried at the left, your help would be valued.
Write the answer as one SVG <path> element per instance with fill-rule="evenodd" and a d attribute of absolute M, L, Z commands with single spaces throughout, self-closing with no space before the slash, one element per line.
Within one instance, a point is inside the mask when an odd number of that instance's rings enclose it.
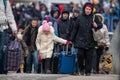
<path fill-rule="evenodd" d="M 7 70 L 17 71 L 22 62 L 22 47 L 17 41 L 11 41 L 7 48 Z"/>

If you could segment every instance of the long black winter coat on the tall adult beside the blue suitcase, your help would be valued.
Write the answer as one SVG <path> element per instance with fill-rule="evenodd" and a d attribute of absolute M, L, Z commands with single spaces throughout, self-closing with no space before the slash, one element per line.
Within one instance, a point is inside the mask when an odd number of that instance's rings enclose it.
<path fill-rule="evenodd" d="M 102 23 L 95 17 L 95 22 L 98 27 L 96 30 L 102 28 Z M 74 43 L 76 48 L 90 49 L 94 48 L 96 42 L 93 39 L 93 15 L 86 16 L 81 14 L 74 26 L 73 31 L 71 32 L 70 40 Z"/>

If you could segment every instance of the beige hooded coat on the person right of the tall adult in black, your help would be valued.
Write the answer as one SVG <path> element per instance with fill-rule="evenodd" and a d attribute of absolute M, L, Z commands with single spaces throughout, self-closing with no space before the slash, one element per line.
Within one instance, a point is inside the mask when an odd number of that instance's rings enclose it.
<path fill-rule="evenodd" d="M 101 14 L 95 14 L 97 16 L 100 16 L 102 18 L 102 23 L 104 22 L 104 17 Z M 109 40 L 109 34 L 108 29 L 105 24 L 103 24 L 103 27 L 99 30 L 100 35 L 98 35 L 101 39 L 98 41 L 98 45 L 101 45 L 102 43 L 105 44 L 107 47 L 110 46 L 110 40 Z"/>

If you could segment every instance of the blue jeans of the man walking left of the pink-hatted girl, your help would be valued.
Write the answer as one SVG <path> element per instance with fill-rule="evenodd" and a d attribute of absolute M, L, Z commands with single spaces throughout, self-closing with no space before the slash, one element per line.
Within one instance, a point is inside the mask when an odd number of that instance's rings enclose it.
<path fill-rule="evenodd" d="M 27 72 L 32 71 L 32 63 L 34 64 L 34 72 L 37 73 L 38 71 L 38 51 L 30 51 L 27 59 L 26 59 L 26 66 Z"/>

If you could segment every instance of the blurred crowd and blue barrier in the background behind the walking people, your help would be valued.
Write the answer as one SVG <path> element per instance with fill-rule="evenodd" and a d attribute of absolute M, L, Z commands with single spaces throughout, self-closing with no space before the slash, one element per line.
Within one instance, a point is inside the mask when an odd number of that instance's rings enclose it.
<path fill-rule="evenodd" d="M 120 17 L 120 0 L 10 0 L 10 2 L 17 25 L 23 28 L 32 17 L 38 17 L 40 21 L 43 20 L 36 12 L 42 10 L 50 12 L 51 8 L 56 6 L 60 12 L 64 8 L 68 8 L 72 15 L 74 7 L 78 7 L 82 12 L 85 2 L 93 3 L 94 12 L 104 15 L 104 23 L 110 34 L 114 32 Z"/>

